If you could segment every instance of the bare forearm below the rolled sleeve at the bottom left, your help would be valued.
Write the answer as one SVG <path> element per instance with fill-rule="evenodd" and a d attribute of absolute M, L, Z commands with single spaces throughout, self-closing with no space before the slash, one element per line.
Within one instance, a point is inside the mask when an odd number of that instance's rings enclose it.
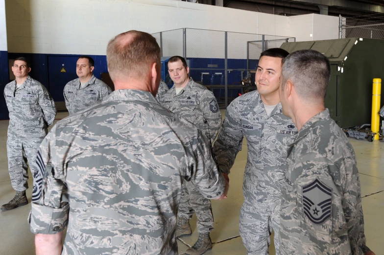
<path fill-rule="evenodd" d="M 36 234 L 36 255 L 61 255 L 63 232 L 57 234 Z"/>

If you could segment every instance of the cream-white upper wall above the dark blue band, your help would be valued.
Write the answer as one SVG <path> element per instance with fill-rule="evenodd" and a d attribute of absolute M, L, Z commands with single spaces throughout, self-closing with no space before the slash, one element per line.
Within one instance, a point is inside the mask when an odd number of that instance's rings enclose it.
<path fill-rule="evenodd" d="M 327 21 L 330 29 L 335 26 L 334 17 L 329 16 L 285 17 L 174 0 L 6 0 L 5 4 L 8 51 L 20 53 L 105 55 L 112 37 L 132 29 L 155 33 L 188 27 L 312 41 L 334 36 L 318 28 L 321 23 L 314 29 L 314 21 Z M 247 40 L 248 36 L 240 37 Z M 196 38 L 196 47 L 187 45 L 188 57 L 198 53 L 194 57 L 223 58 L 219 39 L 218 33 Z M 163 41 L 164 55 L 180 43 L 180 38 L 175 40 Z M 231 39 L 229 58 L 246 58 L 246 43 L 241 40 Z"/>

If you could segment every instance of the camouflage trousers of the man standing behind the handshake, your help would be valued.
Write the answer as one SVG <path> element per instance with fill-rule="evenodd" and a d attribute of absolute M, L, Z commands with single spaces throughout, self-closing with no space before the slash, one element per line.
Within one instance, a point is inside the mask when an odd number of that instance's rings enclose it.
<path fill-rule="evenodd" d="M 185 181 L 181 187 L 179 218 L 192 218 L 196 212 L 197 230 L 201 234 L 207 234 L 214 229 L 214 216 L 212 214 L 211 200 L 203 197 L 191 182 Z"/>

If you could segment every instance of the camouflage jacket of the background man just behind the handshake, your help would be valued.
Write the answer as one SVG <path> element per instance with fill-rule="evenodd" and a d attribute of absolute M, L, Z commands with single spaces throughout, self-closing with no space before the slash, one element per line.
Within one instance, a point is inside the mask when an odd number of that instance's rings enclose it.
<path fill-rule="evenodd" d="M 188 84 L 176 95 L 176 89 L 173 85 L 164 94 L 162 104 L 196 125 L 213 144 L 221 125 L 221 113 L 214 94 L 205 86 L 195 83 L 191 78 Z"/>

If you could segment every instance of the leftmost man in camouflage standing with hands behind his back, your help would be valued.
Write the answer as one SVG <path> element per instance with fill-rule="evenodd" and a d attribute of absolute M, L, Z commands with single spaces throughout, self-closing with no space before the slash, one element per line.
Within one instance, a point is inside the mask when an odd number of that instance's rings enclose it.
<path fill-rule="evenodd" d="M 4 97 L 9 111 L 7 139 L 8 170 L 15 197 L 1 206 L 8 211 L 28 204 L 28 165 L 35 177 L 36 153 L 47 127 L 53 124 L 56 107 L 45 86 L 32 79 L 26 58 L 17 58 L 12 66 L 16 80 L 5 85 Z"/>

